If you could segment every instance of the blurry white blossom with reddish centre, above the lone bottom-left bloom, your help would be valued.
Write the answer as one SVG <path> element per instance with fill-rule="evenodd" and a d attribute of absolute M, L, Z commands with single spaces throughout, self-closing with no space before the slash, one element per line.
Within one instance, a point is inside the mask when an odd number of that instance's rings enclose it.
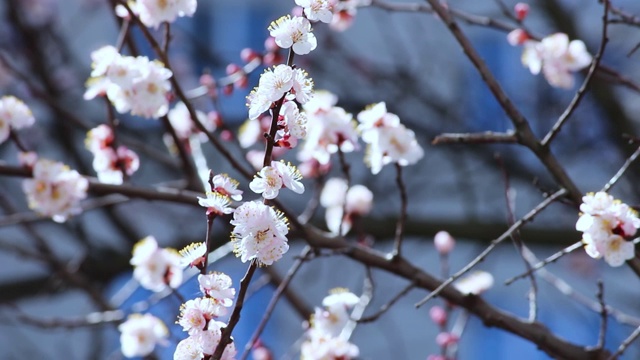
<path fill-rule="evenodd" d="M 182 284 L 181 260 L 176 250 L 161 248 L 153 236 L 147 236 L 135 244 L 129 263 L 140 286 L 159 292 Z"/>

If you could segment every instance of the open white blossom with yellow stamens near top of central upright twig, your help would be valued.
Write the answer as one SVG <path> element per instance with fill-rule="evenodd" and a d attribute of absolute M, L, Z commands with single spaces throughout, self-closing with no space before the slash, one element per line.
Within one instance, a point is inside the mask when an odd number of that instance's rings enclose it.
<path fill-rule="evenodd" d="M 292 48 L 298 55 L 306 55 L 318 46 L 311 32 L 311 23 L 301 16 L 285 15 L 273 21 L 269 26 L 269 34 L 275 38 L 278 46 Z"/>

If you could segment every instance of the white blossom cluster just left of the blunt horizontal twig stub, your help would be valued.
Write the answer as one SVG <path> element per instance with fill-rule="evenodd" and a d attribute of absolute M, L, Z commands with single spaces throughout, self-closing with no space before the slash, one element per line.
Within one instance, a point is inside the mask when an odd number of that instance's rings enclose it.
<path fill-rule="evenodd" d="M 414 132 L 402 125 L 397 115 L 387 112 L 384 102 L 361 111 L 358 121 L 362 140 L 368 145 L 365 162 L 374 175 L 386 164 L 412 165 L 424 156 Z"/>

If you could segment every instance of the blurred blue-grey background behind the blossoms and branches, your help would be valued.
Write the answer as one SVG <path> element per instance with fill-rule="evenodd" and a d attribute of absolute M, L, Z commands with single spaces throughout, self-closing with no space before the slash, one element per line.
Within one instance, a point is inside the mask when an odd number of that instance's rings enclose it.
<path fill-rule="evenodd" d="M 409 1 L 409 0 L 407 0 Z M 394 3 L 388 0 L 389 3 Z M 406 3 L 406 2 L 402 2 Z M 504 1 L 508 9 L 515 1 Z M 613 4 L 630 14 L 640 14 L 634 0 Z M 242 64 L 240 51 L 249 47 L 264 50 L 269 23 L 289 13 L 293 1 L 235 2 L 200 1 L 193 18 L 180 19 L 172 28 L 170 54 L 176 77 L 186 89 L 199 86 L 203 73 L 225 75 L 229 63 Z M 448 1 L 451 8 L 514 25 L 500 3 L 485 0 Z M 594 54 L 600 46 L 602 5 L 596 0 L 537 0 L 530 2 L 526 25 L 535 34 L 554 32 L 582 39 Z M 84 101 L 84 82 L 90 73 L 90 53 L 115 44 L 119 22 L 107 0 L 6 0 L 0 4 L 0 95 L 15 95 L 34 111 L 36 126 L 24 132 L 22 140 L 41 157 L 64 161 L 80 173 L 94 176 L 91 154 L 84 148 L 86 131 L 105 123 L 101 101 Z M 506 41 L 504 30 L 461 21 L 507 94 L 542 137 L 555 123 L 575 91 L 550 87 L 542 76 L 533 76 L 520 62 L 521 48 Z M 515 26 L 515 25 L 514 25 Z M 639 26 L 610 24 L 610 42 L 602 62 L 631 82 L 640 81 L 640 53 L 628 53 L 640 43 Z M 408 258 L 431 273 L 440 272 L 439 257 L 432 246 L 439 230 L 458 240 L 450 267 L 456 271 L 473 259 L 489 241 L 509 226 L 505 206 L 505 173 L 515 192 L 515 216 L 522 217 L 556 185 L 540 162 L 517 145 L 431 145 L 445 132 L 504 132 L 511 123 L 472 68 L 446 27 L 432 14 L 389 12 L 376 6 L 358 10 L 351 27 L 343 32 L 317 24 L 318 48 L 296 64 L 310 74 L 316 89 L 338 95 L 338 105 L 357 114 L 366 105 L 386 101 L 389 111 L 413 129 L 425 149 L 425 157 L 405 169 L 410 194 L 407 223 Z M 138 50 L 153 56 L 142 35 L 134 31 Z M 207 97 L 194 100 L 198 109 L 217 110 L 229 128 L 245 121 L 245 96 L 257 84 L 262 72 L 249 75 L 248 89 L 221 95 L 218 103 Z M 584 74 L 578 74 L 576 89 Z M 574 89 L 574 90 L 576 90 Z M 610 76 L 596 74 L 591 91 L 553 143 L 552 150 L 583 192 L 597 191 L 616 173 L 637 144 L 630 143 L 638 125 L 638 89 Z M 164 145 L 164 128 L 158 121 L 120 116 L 122 141 L 141 156 L 141 168 L 131 183 L 140 186 L 182 186 L 179 162 Z M 243 150 L 228 142 L 239 158 Z M 234 170 L 209 144 L 203 151 L 216 173 Z M 375 246 L 391 249 L 399 211 L 395 172 L 386 167 L 377 176 L 362 163 L 363 151 L 347 154 L 352 182 L 374 193 L 374 209 L 362 228 Z M 17 164 L 17 149 L 0 145 L 0 159 Z M 292 157 L 293 159 L 293 157 Z M 499 160 L 498 160 L 499 159 Z M 339 166 L 332 174 L 340 176 Z M 239 176 L 236 176 L 239 178 Z M 640 199 L 637 187 L 640 167 L 632 166 L 612 194 L 630 205 Z M 131 247 L 139 239 L 155 236 L 162 246 L 182 248 L 202 241 L 205 217 L 201 208 L 168 202 L 92 197 L 93 209 L 65 224 L 56 224 L 28 210 L 20 188 L 21 179 L 0 176 L 0 358 L 119 359 L 115 326 L 54 326 L 46 320 L 74 319 L 101 310 L 96 298 L 126 313 L 149 306 L 149 311 L 173 324 L 179 301 L 168 297 L 150 304 L 149 293 L 131 281 L 128 264 Z M 309 182 L 308 188 L 312 188 Z M 244 189 L 248 190 L 246 184 Z M 300 198 L 283 194 L 283 203 L 298 213 L 312 198 L 312 191 Z M 103 204 L 100 200 L 107 203 Z M 576 210 L 556 203 L 536 217 L 520 233 L 521 238 L 544 258 L 578 241 L 574 230 Z M 326 228 L 322 212 L 312 222 Z M 220 245 L 228 240 L 230 228 L 214 229 Z M 284 274 L 303 243 L 292 238 L 292 249 L 274 269 L 257 278 L 246 313 L 235 333 L 239 349 L 247 341 L 273 291 L 270 280 Z M 60 266 L 79 274 L 97 296 L 71 285 L 60 269 L 39 257 L 46 244 L 60 259 Z M 34 255 L 35 254 L 35 255 Z M 234 282 L 246 265 L 225 256 L 212 265 L 216 271 L 233 275 Z M 510 286 L 504 280 L 524 271 L 517 251 L 503 244 L 480 266 L 495 278 L 486 299 L 505 311 L 526 317 L 528 280 Z M 595 345 L 599 314 L 585 304 L 596 302 L 596 280 L 602 279 L 606 302 L 630 315 L 639 313 L 638 278 L 626 267 L 610 268 L 588 258 L 582 251 L 566 256 L 548 267 L 551 275 L 563 278 L 575 293 L 558 290 L 558 282 L 539 277 L 539 320 L 560 336 L 579 344 Z M 551 276 L 550 275 L 550 276 Z M 366 269 L 342 257 L 318 259 L 303 266 L 292 283 L 293 292 L 308 307 L 319 306 L 328 290 L 347 287 L 359 294 Z M 373 272 L 374 297 L 367 312 L 375 312 L 407 284 L 389 274 Z M 551 278 L 549 278 L 551 279 Z M 554 285 L 555 284 L 555 285 Z M 193 297 L 197 288 L 187 282 L 180 292 Z M 94 294 L 95 295 L 95 294 Z M 360 347 L 362 359 L 425 359 L 439 352 L 438 333 L 428 316 L 431 305 L 416 310 L 413 304 L 425 296 L 412 291 L 377 322 L 359 325 L 352 341 Z M 585 300 L 586 299 L 586 300 Z M 365 314 L 367 313 L 365 312 Z M 454 315 L 460 315 L 455 311 Z M 640 317 L 640 315 L 638 315 Z M 29 323 L 36 318 L 42 323 Z M 304 319 L 283 300 L 265 331 L 263 342 L 275 358 L 295 358 L 296 341 L 303 333 Z M 637 324 L 638 326 L 640 324 Z M 633 327 L 611 321 L 606 339 L 615 349 Z M 183 333 L 172 328 L 171 341 L 157 351 L 158 358 L 171 358 Z M 471 319 L 460 344 L 460 359 L 546 359 L 535 346 L 511 334 L 487 329 Z M 640 358 L 640 347 L 632 345 L 625 359 Z"/>

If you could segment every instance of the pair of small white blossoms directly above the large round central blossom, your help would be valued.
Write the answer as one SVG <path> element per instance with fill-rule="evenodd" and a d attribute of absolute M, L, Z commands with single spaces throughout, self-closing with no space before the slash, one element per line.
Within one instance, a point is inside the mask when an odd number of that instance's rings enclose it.
<path fill-rule="evenodd" d="M 265 166 L 258 172 L 249 183 L 249 188 L 257 194 L 262 194 L 265 199 L 275 199 L 283 187 L 302 194 L 304 185 L 300 179 L 302 175 L 291 163 L 272 161 L 270 166 Z"/>

